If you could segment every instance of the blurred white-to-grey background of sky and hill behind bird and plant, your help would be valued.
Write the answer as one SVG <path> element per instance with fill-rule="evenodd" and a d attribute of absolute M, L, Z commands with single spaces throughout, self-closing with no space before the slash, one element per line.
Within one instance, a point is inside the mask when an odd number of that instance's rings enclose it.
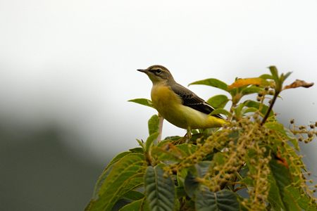
<path fill-rule="evenodd" d="M 138 68 L 183 85 L 292 71 L 317 82 L 317 1 L 0 1 L 0 210 L 83 210 L 156 112 Z M 223 91 L 192 86 L 208 99 Z M 317 120 L 317 89 L 282 93 L 278 118 Z M 185 131 L 164 123 L 163 136 Z M 316 180 L 316 141 L 302 145 Z"/>

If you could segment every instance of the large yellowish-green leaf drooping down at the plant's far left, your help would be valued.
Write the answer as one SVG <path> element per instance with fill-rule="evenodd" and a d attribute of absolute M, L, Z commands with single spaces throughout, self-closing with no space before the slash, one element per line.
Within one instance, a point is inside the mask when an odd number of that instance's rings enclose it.
<path fill-rule="evenodd" d="M 114 163 L 99 187 L 98 197 L 86 210 L 111 210 L 125 193 L 143 184 L 144 165 L 144 155 L 139 153 L 130 153 Z"/>

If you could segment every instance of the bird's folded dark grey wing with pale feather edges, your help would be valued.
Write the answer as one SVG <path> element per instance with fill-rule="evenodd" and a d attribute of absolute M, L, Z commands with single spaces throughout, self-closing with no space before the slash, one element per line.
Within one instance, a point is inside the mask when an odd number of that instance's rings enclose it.
<path fill-rule="evenodd" d="M 189 89 L 182 87 L 180 84 L 171 84 L 170 87 L 172 90 L 182 98 L 182 105 L 193 108 L 194 110 L 199 110 L 201 113 L 210 114 L 214 108 L 210 106 L 206 101 L 199 98 L 197 94 L 190 91 Z M 221 115 L 213 115 L 223 119 Z"/>

